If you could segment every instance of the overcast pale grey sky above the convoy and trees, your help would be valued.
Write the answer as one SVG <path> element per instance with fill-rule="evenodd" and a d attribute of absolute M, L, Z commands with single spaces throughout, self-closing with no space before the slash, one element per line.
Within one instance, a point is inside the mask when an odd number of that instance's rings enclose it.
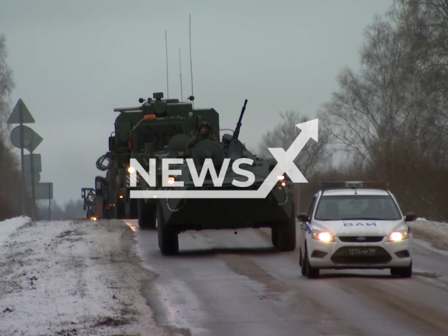
<path fill-rule="evenodd" d="M 343 66 L 358 68 L 363 29 L 393 0 L 143 1 L 0 0 L 0 33 L 22 98 L 43 137 L 41 182 L 57 202 L 94 187 L 99 156 L 117 116 L 140 97 L 191 94 L 189 15 L 195 108 L 214 108 L 234 128 L 248 105 L 241 141 L 258 148 L 279 111 L 315 116 L 337 90 Z M 19 152 L 18 152 L 19 153 Z"/>

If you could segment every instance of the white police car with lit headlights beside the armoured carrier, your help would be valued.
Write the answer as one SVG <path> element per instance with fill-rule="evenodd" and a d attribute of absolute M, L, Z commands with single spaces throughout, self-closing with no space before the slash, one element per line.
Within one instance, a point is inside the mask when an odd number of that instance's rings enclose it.
<path fill-rule="evenodd" d="M 319 182 L 307 214 L 299 214 L 302 275 L 319 269 L 391 269 L 412 276 L 412 235 L 387 182 Z"/>

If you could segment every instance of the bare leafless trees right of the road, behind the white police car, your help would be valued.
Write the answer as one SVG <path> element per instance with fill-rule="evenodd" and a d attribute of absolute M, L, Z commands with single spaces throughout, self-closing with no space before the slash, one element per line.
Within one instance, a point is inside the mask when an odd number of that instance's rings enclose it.
<path fill-rule="evenodd" d="M 396 0 L 365 29 L 360 70 L 337 76 L 317 113 L 319 141 L 304 167 L 300 211 L 307 211 L 318 180 L 387 180 L 403 211 L 448 220 L 448 3 Z M 281 113 L 266 147 L 288 148 L 307 120 Z M 338 163 L 339 162 L 339 163 Z"/>

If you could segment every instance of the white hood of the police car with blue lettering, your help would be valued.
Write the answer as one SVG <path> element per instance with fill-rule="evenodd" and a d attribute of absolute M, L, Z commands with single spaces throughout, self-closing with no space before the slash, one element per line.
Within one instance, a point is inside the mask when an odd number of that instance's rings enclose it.
<path fill-rule="evenodd" d="M 407 224 L 404 220 L 315 221 L 312 229 L 328 231 L 333 236 L 388 236 L 393 231 L 407 230 Z"/>

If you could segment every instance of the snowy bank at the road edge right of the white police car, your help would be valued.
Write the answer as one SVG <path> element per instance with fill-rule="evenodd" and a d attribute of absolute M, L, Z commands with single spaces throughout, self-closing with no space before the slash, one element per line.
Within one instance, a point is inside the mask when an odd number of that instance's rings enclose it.
<path fill-rule="evenodd" d="M 448 250 L 448 223 L 428 221 L 426 218 L 417 218 L 409 222 L 412 235 L 432 244 L 435 248 Z"/>

